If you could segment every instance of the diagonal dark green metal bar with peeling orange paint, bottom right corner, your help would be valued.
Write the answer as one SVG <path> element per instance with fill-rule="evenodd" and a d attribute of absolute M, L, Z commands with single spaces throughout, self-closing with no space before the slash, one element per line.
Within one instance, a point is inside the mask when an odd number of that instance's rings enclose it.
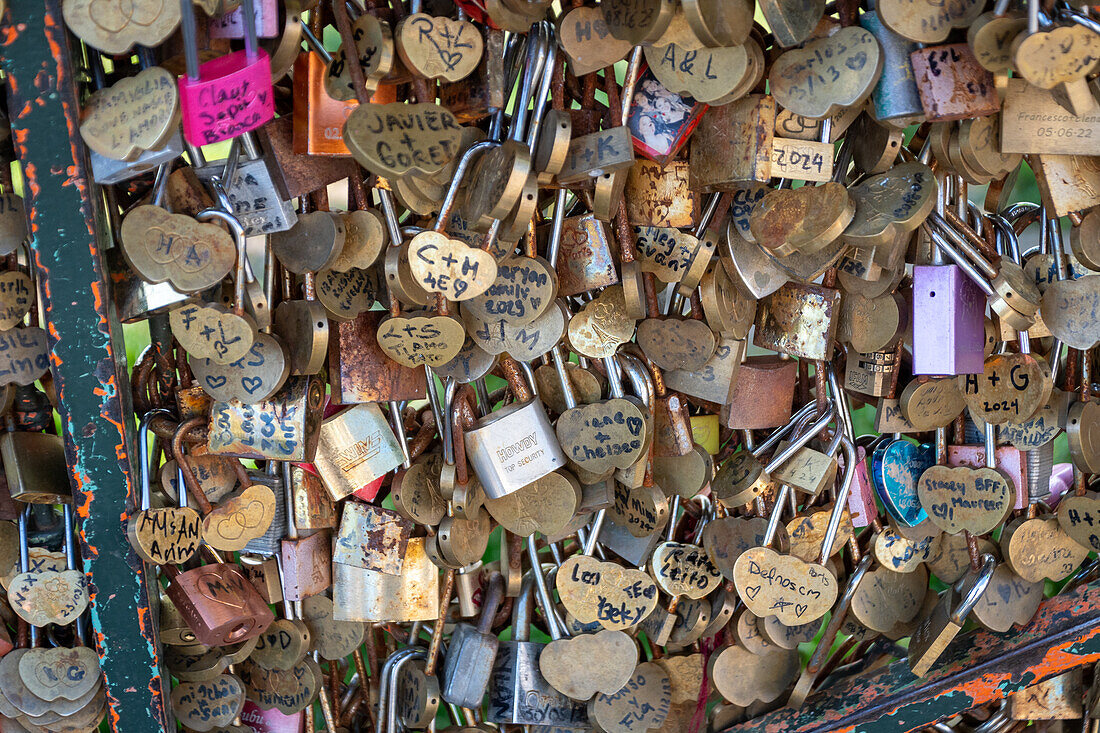
<path fill-rule="evenodd" d="M 956 638 L 927 678 L 908 660 L 815 693 L 728 733 L 906 733 L 1044 679 L 1100 661 L 1100 581 L 1044 601 L 1031 623 Z"/>

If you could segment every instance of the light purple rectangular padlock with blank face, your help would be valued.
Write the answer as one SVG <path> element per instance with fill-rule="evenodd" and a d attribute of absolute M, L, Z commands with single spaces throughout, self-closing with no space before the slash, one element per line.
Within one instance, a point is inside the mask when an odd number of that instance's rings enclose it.
<path fill-rule="evenodd" d="M 958 265 L 913 267 L 913 373 L 980 374 L 986 296 Z"/>

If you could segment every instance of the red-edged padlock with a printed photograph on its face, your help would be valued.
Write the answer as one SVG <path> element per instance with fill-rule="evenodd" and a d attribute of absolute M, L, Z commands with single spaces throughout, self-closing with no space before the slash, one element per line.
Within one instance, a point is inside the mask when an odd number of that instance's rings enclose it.
<path fill-rule="evenodd" d="M 627 117 L 634 149 L 650 160 L 668 161 L 688 142 L 706 107 L 666 89 L 646 66 L 638 76 Z"/>

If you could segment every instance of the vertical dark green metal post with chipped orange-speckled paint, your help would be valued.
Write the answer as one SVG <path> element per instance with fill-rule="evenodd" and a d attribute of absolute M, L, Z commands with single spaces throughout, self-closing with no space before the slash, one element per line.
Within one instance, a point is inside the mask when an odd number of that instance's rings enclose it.
<path fill-rule="evenodd" d="M 116 733 L 148 733 L 168 727 L 167 678 L 150 605 L 156 579 L 125 538 L 133 408 L 122 328 L 100 262 L 98 189 L 78 129 L 74 44 L 62 0 L 9 0 L 0 64 L 8 74 L 108 721 Z"/>

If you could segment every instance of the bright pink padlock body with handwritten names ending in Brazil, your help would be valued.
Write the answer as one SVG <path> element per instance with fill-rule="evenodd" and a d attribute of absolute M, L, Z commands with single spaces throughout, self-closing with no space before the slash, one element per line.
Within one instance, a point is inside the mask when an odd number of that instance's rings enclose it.
<path fill-rule="evenodd" d="M 209 145 L 263 127 L 275 117 L 271 58 L 258 50 L 219 56 L 199 67 L 199 78 L 179 78 L 184 136 Z"/>

